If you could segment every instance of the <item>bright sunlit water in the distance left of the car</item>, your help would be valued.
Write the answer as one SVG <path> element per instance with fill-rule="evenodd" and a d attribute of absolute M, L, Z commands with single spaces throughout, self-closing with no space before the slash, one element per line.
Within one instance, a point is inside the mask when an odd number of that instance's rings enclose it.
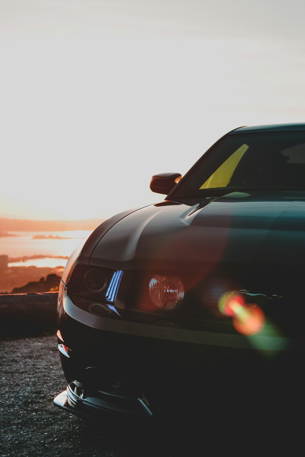
<path fill-rule="evenodd" d="M 62 232 L 11 232 L 11 235 L 0 237 L 0 255 L 8 255 L 9 259 L 18 257 L 42 256 L 39 259 L 9 262 L 9 266 L 65 266 L 67 259 L 56 256 L 70 256 L 72 251 L 84 242 L 92 233 L 91 230 L 66 230 Z"/>

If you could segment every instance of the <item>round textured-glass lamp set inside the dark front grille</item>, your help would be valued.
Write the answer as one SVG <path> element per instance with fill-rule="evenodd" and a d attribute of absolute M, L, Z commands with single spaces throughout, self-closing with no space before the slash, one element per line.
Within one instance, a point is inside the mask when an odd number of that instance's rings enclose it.
<path fill-rule="evenodd" d="M 169 311 L 182 303 L 184 287 L 176 276 L 155 275 L 150 280 L 149 296 L 158 308 Z"/>

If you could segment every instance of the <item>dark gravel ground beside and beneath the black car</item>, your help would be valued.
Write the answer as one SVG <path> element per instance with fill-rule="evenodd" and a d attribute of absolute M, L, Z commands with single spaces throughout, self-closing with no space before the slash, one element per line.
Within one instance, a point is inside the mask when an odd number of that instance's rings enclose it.
<path fill-rule="evenodd" d="M 274 418 L 271 423 L 263 411 L 263 425 L 247 425 L 242 419 L 230 424 L 229 432 L 229 424 L 221 419 L 217 423 L 208 420 L 209 427 L 205 423 L 197 430 L 187 427 L 187 420 L 179 430 L 170 426 L 114 430 L 105 422 L 89 422 L 66 413 L 53 404 L 66 387 L 55 335 L 1 340 L 0 361 L 0 457 L 175 457 L 224 451 L 247 455 L 254 448 L 274 455 L 284 445 L 290 455 L 304 453 L 303 431 L 299 430 L 303 420 L 280 418 L 274 424 Z M 204 417 L 204 410 L 198 416 Z"/>

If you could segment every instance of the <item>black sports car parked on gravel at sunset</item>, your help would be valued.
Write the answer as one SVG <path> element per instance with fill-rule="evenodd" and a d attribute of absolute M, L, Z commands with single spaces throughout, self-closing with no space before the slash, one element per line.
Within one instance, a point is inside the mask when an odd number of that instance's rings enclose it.
<path fill-rule="evenodd" d="M 54 403 L 140 422 L 300 406 L 305 124 L 237 128 L 150 189 L 165 200 L 104 221 L 68 260 Z"/>

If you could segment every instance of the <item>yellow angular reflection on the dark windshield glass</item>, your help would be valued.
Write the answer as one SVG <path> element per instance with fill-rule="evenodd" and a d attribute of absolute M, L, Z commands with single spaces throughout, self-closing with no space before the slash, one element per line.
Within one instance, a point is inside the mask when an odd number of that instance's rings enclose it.
<path fill-rule="evenodd" d="M 249 146 L 243 144 L 240 148 L 236 149 L 236 151 L 231 154 L 216 171 L 214 171 L 213 175 L 211 175 L 199 189 L 228 186 L 236 166 L 248 148 Z"/>

